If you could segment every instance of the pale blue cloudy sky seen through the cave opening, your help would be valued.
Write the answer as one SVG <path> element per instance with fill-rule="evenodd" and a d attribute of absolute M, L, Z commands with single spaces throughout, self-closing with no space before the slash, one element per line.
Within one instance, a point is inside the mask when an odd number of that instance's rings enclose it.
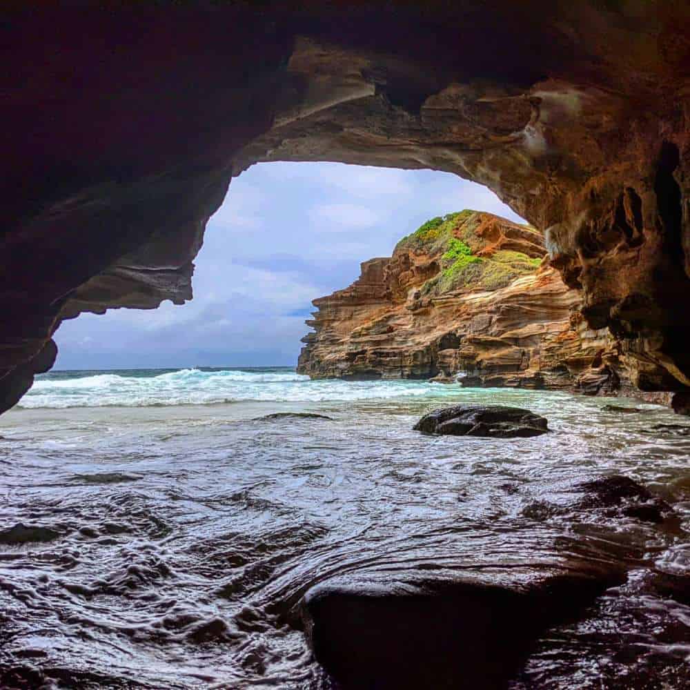
<path fill-rule="evenodd" d="M 262 163 L 233 179 L 195 260 L 194 299 L 63 322 L 56 369 L 294 366 L 311 300 L 348 286 L 424 221 L 463 208 L 522 222 L 446 172 Z"/>

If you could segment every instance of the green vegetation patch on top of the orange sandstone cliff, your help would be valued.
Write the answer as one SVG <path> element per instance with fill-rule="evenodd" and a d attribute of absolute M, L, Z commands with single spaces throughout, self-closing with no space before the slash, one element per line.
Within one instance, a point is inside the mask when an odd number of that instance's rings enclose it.
<path fill-rule="evenodd" d="M 474 210 L 449 213 L 426 221 L 397 243 L 396 251 L 440 255 L 440 273 L 422 285 L 422 295 L 443 295 L 463 289 L 497 290 L 537 270 L 541 259 L 522 252 L 499 249 L 486 257 L 476 256 L 486 246 L 486 240 L 475 232 L 481 222 L 481 213 Z"/>

